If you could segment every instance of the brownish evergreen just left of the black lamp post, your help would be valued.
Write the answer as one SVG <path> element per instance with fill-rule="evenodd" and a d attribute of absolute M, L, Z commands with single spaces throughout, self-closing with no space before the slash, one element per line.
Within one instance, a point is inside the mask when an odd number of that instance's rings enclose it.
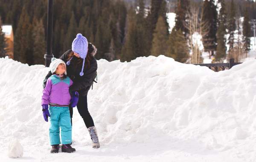
<path fill-rule="evenodd" d="M 33 39 L 34 39 L 34 48 L 33 48 L 33 58 L 34 64 L 44 64 L 44 54 L 46 51 L 46 41 L 44 33 L 43 20 L 34 20 L 35 26 L 33 26 Z"/>

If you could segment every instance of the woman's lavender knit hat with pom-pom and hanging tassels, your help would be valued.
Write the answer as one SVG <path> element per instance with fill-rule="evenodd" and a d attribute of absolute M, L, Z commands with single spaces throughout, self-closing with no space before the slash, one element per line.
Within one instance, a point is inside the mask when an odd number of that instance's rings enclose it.
<path fill-rule="evenodd" d="M 86 58 L 86 55 L 87 55 L 87 52 L 88 52 L 88 41 L 80 33 L 78 33 L 76 35 L 76 38 L 72 42 L 72 51 L 76 52 L 80 56 L 80 58 L 84 59 L 83 67 L 82 67 L 82 70 L 80 72 L 80 76 L 83 76 L 84 75 L 84 72 L 83 72 L 84 71 L 84 62 L 85 62 L 85 58 Z M 72 58 L 70 58 L 70 60 L 67 61 L 67 65 L 70 64 L 70 61 L 71 61 Z"/>

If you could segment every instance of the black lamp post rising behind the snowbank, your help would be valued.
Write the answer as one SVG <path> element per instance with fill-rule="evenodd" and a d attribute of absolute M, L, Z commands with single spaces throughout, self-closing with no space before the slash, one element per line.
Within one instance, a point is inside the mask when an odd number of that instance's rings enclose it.
<path fill-rule="evenodd" d="M 48 0 L 47 9 L 47 52 L 44 55 L 45 67 L 49 67 L 52 55 L 53 0 Z"/>

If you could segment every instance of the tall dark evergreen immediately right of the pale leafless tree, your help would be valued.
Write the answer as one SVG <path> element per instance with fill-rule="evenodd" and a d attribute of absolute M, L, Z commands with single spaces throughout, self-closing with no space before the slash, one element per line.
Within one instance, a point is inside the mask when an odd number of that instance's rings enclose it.
<path fill-rule="evenodd" d="M 203 6 L 202 21 L 209 25 L 209 32 L 203 37 L 204 50 L 213 55 L 216 50 L 216 32 L 217 32 L 217 7 L 214 0 L 205 0 Z"/>

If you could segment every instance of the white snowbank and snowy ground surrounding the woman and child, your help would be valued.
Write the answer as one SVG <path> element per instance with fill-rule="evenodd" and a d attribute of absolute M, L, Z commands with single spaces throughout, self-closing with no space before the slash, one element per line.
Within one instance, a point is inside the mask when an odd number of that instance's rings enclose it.
<path fill-rule="evenodd" d="M 88 107 L 101 148 L 91 148 L 79 113 L 73 115 L 75 153 L 50 154 L 41 111 L 43 65 L 0 58 L 2 162 L 254 162 L 256 60 L 230 70 L 181 64 L 163 55 L 129 63 L 98 61 Z M 17 139 L 23 157 L 7 155 Z"/>

